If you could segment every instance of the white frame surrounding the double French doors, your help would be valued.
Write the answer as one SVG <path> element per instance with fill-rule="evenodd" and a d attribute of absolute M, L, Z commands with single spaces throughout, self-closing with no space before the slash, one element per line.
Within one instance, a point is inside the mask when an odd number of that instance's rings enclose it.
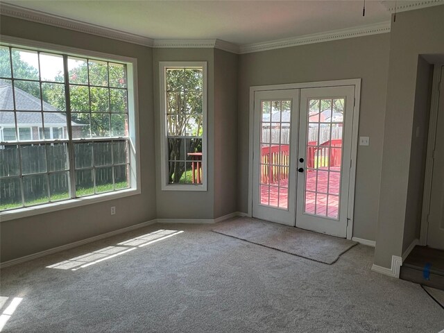
<path fill-rule="evenodd" d="M 304 89 L 320 87 L 339 87 L 352 85 L 355 87 L 355 105 L 353 107 L 352 121 L 352 149 L 350 160 L 350 185 L 348 187 L 348 209 L 347 209 L 347 239 L 352 239 L 353 234 L 353 212 L 355 209 L 355 185 L 356 185 L 356 160 L 359 130 L 359 105 L 361 101 L 361 79 L 350 78 L 345 80 L 316 81 L 307 83 L 289 83 L 284 85 L 258 85 L 250 87 L 250 124 L 248 133 L 248 216 L 253 216 L 253 130 L 255 116 L 255 92 L 265 90 Z M 344 161 L 345 163 L 345 161 Z M 346 164 L 344 164 L 346 165 Z M 296 217 L 296 216 L 295 216 Z"/>

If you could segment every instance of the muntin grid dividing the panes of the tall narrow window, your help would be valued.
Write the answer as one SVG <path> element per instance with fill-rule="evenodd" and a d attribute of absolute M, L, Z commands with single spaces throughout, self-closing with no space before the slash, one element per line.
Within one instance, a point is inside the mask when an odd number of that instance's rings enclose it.
<path fill-rule="evenodd" d="M 187 71 L 187 69 L 197 69 L 198 71 L 200 71 L 201 73 L 201 80 L 200 80 L 200 87 L 201 89 L 187 89 L 187 81 L 182 81 L 182 83 L 180 84 L 180 89 L 168 89 L 168 83 L 169 83 L 169 77 L 168 77 L 168 72 L 169 71 L 182 71 L 185 74 L 185 71 Z M 164 75 L 164 101 L 165 101 L 165 115 L 164 115 L 164 121 L 165 121 L 165 131 L 166 131 L 166 151 L 167 151 L 167 176 L 169 176 L 170 173 L 170 168 L 171 165 L 174 164 L 183 164 L 184 165 L 184 169 L 185 171 L 182 173 L 181 179 L 185 178 L 185 182 L 170 182 L 169 178 L 167 178 L 167 184 L 168 185 L 203 185 L 203 183 L 205 182 L 204 180 L 204 168 L 206 167 L 204 165 L 204 159 L 205 157 L 203 156 L 203 150 L 204 150 L 204 136 L 205 136 L 205 96 L 204 96 L 204 86 L 205 86 L 205 80 L 206 80 L 206 74 L 205 74 L 205 69 L 203 66 L 180 66 L 180 67 L 171 67 L 171 66 L 167 66 L 164 67 L 163 69 L 163 75 Z M 185 76 L 183 77 L 185 78 Z M 178 87 L 176 87 L 178 88 Z M 170 103 L 169 103 L 169 96 L 170 94 L 173 93 L 175 95 L 175 112 L 170 112 Z M 200 101 L 202 103 L 201 105 L 201 113 L 199 112 L 179 112 L 179 108 L 178 108 L 178 101 L 180 99 L 180 95 L 183 94 L 183 106 L 182 108 L 187 109 L 187 94 L 196 94 L 196 96 L 198 98 L 200 98 Z M 200 119 L 200 132 L 202 133 L 202 135 L 170 135 L 170 131 L 169 131 L 169 116 L 176 116 L 176 119 L 178 119 L 178 117 L 186 117 L 186 116 L 190 116 L 189 119 L 191 119 L 192 117 L 195 117 L 195 119 Z M 188 121 L 189 121 L 188 119 Z M 185 123 L 185 133 L 186 133 L 186 124 Z M 177 128 L 175 127 L 175 133 L 177 133 Z M 199 133 L 199 130 L 196 134 Z M 169 150 L 169 142 L 170 139 L 181 139 L 183 140 L 183 160 L 171 160 L 170 159 L 170 150 Z M 202 156 L 200 160 L 197 160 L 198 162 L 196 162 L 196 166 L 198 168 L 197 171 L 193 171 L 192 167 L 193 167 L 193 163 L 195 160 L 192 160 L 191 157 L 187 157 L 187 140 L 200 140 L 200 147 L 201 147 L 201 152 Z M 182 144 L 181 144 L 182 145 Z M 181 147 L 182 148 L 182 147 Z M 182 149 L 180 149 L 182 150 Z M 180 153 L 181 154 L 181 153 Z M 187 168 L 187 164 L 189 164 L 189 168 Z M 199 171 L 199 165 L 200 165 L 200 171 Z M 191 174 L 191 181 L 188 182 L 188 171 L 191 171 L 191 173 L 194 172 L 194 174 Z M 197 175 L 196 175 L 197 173 Z M 174 173 L 172 173 L 172 175 L 174 175 Z M 185 175 L 185 176 L 184 176 Z M 199 179 L 200 177 L 200 182 L 193 182 L 192 179 Z"/>

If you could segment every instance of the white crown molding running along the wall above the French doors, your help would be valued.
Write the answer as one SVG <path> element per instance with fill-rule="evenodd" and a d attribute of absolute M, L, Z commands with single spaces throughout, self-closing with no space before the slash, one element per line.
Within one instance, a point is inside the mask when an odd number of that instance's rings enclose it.
<path fill-rule="evenodd" d="M 319 42 L 330 42 L 331 40 L 343 40 L 345 38 L 361 37 L 366 35 L 375 35 L 378 33 L 389 33 L 390 22 L 370 24 L 366 26 L 357 26 L 355 28 L 340 29 L 335 31 L 326 31 L 325 33 L 314 33 L 299 37 L 284 38 L 282 40 L 272 40 L 270 42 L 261 42 L 242 45 L 239 53 L 252 53 L 259 51 L 268 51 L 273 49 L 282 49 L 284 47 L 298 46 L 304 44 L 314 44 Z"/>

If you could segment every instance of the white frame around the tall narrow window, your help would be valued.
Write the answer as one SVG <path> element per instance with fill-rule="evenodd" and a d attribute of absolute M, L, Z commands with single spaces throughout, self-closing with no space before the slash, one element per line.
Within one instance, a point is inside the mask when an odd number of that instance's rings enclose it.
<path fill-rule="evenodd" d="M 203 137 L 202 137 L 202 184 L 169 184 L 167 144 L 167 68 L 202 68 L 203 78 Z M 205 61 L 160 61 L 160 176 L 163 191 L 207 191 L 207 62 Z"/>

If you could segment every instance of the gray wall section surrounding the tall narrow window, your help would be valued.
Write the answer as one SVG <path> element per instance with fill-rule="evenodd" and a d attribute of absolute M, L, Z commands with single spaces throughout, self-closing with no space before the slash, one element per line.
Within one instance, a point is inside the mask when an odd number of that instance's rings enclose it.
<path fill-rule="evenodd" d="M 160 175 L 160 61 L 206 61 L 208 81 L 207 104 L 207 179 L 214 179 L 214 49 L 153 49 L 155 156 L 156 173 Z M 207 182 L 207 191 L 162 191 L 157 177 L 158 219 L 213 219 L 214 183 Z"/>

